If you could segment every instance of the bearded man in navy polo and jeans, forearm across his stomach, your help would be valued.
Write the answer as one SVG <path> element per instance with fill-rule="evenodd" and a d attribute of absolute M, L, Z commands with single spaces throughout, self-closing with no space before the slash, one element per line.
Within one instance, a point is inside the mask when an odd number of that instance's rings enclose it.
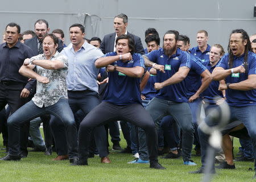
<path fill-rule="evenodd" d="M 163 38 L 163 49 L 144 55 L 145 65 L 157 70 L 155 89 L 159 90 L 146 107 L 155 123 L 172 115 L 183 130 L 182 155 L 184 164 L 195 166 L 191 160 L 193 122 L 185 88 L 185 77 L 191 68 L 191 56 L 177 48 L 179 32 L 169 30 Z"/>

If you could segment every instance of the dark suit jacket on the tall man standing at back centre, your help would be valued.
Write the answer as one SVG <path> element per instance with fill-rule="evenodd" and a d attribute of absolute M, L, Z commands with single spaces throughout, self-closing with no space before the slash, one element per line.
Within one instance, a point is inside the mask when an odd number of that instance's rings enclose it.
<path fill-rule="evenodd" d="M 139 38 L 136 35 L 130 34 L 127 32 L 127 35 L 133 36 L 134 42 L 135 42 L 135 52 L 140 53 L 141 55 L 144 55 L 144 49 L 141 43 L 141 38 Z M 114 42 L 115 42 L 115 33 L 105 35 L 100 49 L 103 53 L 113 52 L 114 51 Z"/>

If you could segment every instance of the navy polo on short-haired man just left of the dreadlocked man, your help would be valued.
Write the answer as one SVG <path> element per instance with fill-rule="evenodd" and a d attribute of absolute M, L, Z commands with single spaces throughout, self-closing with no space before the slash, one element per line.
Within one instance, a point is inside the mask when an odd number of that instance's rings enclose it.
<path fill-rule="evenodd" d="M 219 62 L 220 61 L 218 61 L 218 63 Z M 216 67 L 216 65 L 212 67 L 212 65 L 210 65 L 210 61 L 204 61 L 203 65 L 207 67 L 210 73 L 212 73 L 213 69 Z M 205 89 L 203 92 L 203 97 L 205 102 L 208 102 L 209 104 L 216 104 L 216 102 L 214 101 L 214 98 L 216 97 L 223 98 L 223 94 L 220 90 L 218 90 L 218 86 L 220 86 L 220 81 L 213 80 L 212 82 L 210 82 L 210 85 L 208 86 L 208 88 Z"/>

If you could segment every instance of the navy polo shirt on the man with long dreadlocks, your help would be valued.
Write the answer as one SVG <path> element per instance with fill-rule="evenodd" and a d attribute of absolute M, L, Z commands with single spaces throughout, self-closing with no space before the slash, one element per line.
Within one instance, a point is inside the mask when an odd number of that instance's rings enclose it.
<path fill-rule="evenodd" d="M 233 60 L 233 67 L 236 68 L 240 65 L 244 65 L 244 57 L 245 54 L 237 57 L 234 56 Z M 229 54 L 227 53 L 225 56 L 222 57 L 220 62 L 216 65 L 216 67 L 221 67 L 224 69 L 229 69 L 228 60 Z M 256 56 L 253 52 L 248 52 L 247 57 L 247 69 L 246 73 L 232 73 L 228 77 L 226 77 L 226 83 L 237 83 L 244 80 L 247 80 L 248 75 L 255 75 L 256 74 Z M 249 105 L 256 105 L 256 89 L 253 90 L 234 90 L 234 89 L 227 89 L 226 90 L 226 101 L 230 106 L 249 106 Z"/>

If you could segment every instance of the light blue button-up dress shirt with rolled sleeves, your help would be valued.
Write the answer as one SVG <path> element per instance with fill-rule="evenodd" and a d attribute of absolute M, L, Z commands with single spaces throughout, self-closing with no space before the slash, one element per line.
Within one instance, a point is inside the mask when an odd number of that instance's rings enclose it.
<path fill-rule="evenodd" d="M 96 80 L 99 69 L 95 67 L 94 63 L 104 55 L 101 50 L 85 41 L 77 52 L 75 52 L 73 45 L 69 44 L 61 53 L 68 57 L 68 90 L 98 92 Z"/>

